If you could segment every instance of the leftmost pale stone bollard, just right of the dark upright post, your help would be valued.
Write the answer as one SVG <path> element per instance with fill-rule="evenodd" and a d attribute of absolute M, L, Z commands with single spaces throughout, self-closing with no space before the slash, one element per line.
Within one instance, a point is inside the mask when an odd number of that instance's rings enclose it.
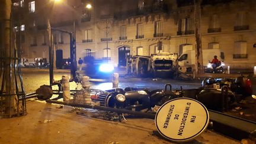
<path fill-rule="evenodd" d="M 70 100 L 70 90 L 69 90 L 69 76 L 63 75 L 62 80 L 62 92 L 63 92 L 63 101 L 69 101 Z"/>

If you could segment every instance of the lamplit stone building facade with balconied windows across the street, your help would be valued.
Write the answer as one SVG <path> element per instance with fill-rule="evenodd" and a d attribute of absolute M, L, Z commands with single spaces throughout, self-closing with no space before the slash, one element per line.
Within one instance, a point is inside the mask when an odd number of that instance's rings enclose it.
<path fill-rule="evenodd" d="M 110 59 L 125 66 L 127 55 L 195 49 L 193 0 L 23 0 L 16 11 L 23 57 L 48 59 L 46 27 L 73 31 L 76 22 L 76 57 Z M 22 4 L 21 4 L 22 3 Z M 85 8 L 90 3 L 91 9 Z M 22 7 L 21 7 L 22 6 Z M 74 7 L 75 6 L 75 7 Z M 201 5 L 202 49 L 220 49 L 231 68 L 256 65 L 256 1 L 203 0 Z M 16 15 L 17 16 L 17 15 Z M 20 25 L 20 26 L 19 26 Z M 22 26 L 23 25 L 23 26 Z M 55 46 L 69 56 L 69 36 L 56 32 Z M 162 41 L 162 50 L 157 49 Z"/>

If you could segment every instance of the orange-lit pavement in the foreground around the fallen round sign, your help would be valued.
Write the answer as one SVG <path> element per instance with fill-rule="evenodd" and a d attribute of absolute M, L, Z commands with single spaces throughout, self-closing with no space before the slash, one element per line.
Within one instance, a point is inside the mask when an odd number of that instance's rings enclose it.
<path fill-rule="evenodd" d="M 153 133 L 156 127 L 151 119 L 107 121 L 93 118 L 97 110 L 81 113 L 65 105 L 56 107 L 27 100 L 27 116 L 0 119 L 0 143 L 171 143 Z M 191 142 L 239 143 L 211 130 Z"/>

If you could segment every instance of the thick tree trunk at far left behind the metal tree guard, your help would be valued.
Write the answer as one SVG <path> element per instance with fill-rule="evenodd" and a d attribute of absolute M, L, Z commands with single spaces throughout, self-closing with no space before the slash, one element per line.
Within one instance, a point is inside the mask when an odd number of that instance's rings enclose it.
<path fill-rule="evenodd" d="M 2 20 L 4 24 L 4 69 L 5 69 L 5 116 L 18 114 L 18 97 L 15 93 L 14 51 L 11 49 L 11 0 L 0 0 Z"/>

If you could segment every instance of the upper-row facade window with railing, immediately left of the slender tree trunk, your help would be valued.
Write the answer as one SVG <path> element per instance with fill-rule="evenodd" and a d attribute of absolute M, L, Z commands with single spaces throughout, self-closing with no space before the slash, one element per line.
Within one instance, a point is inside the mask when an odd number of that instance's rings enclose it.
<path fill-rule="evenodd" d="M 177 35 L 194 34 L 194 19 L 183 18 L 178 20 Z"/>

